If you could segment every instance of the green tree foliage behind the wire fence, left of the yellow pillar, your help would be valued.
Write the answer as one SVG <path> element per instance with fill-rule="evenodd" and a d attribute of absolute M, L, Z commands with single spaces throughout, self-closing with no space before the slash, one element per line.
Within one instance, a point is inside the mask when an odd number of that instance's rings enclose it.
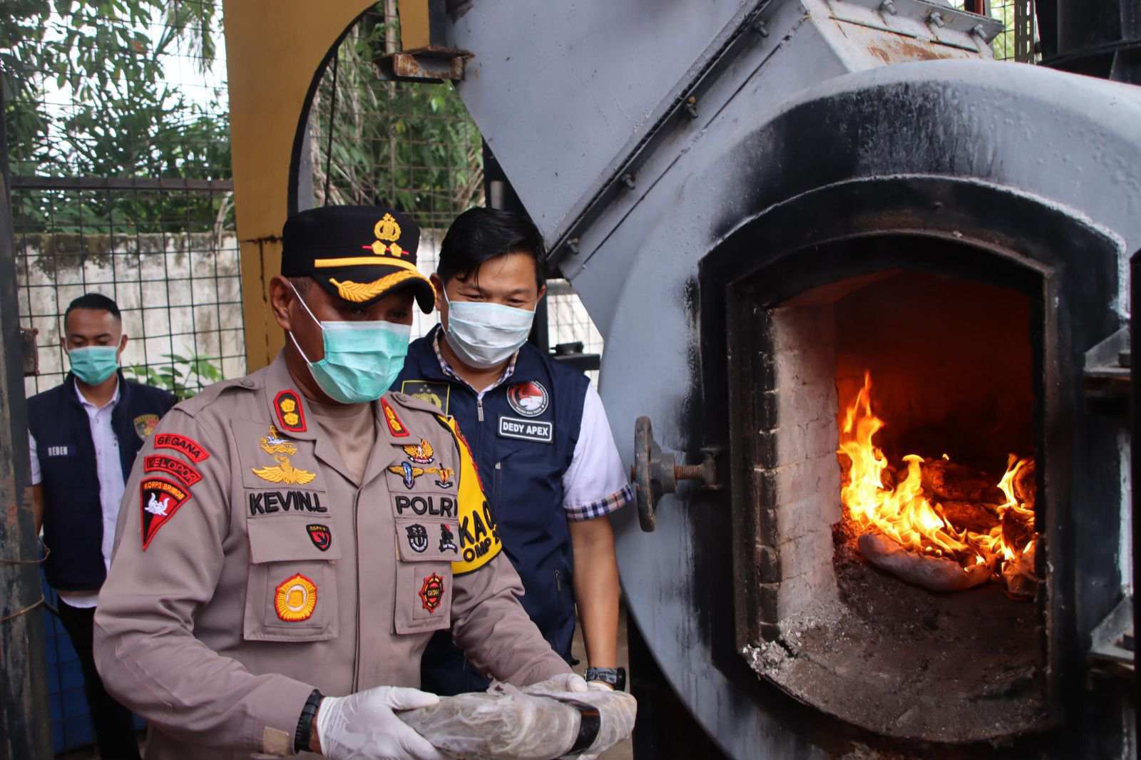
<path fill-rule="evenodd" d="M 229 176 L 227 114 L 187 99 L 165 81 L 164 70 L 180 45 L 192 50 L 201 73 L 209 70 L 219 2 L 7 0 L 5 6 L 0 84 L 13 175 Z M 222 96 L 219 88 L 216 98 Z M 43 194 L 22 207 L 22 220 L 50 217 L 52 229 L 60 231 L 110 226 L 118 218 L 143 224 L 140 232 L 176 232 L 180 221 L 212 220 L 222 202 L 208 194 L 113 195 L 60 204 Z"/>

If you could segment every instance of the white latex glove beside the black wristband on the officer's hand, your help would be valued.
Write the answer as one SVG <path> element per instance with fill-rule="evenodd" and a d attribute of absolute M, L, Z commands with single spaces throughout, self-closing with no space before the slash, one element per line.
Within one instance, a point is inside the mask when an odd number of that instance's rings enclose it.
<path fill-rule="evenodd" d="M 435 694 L 398 686 L 325 697 L 317 709 L 321 753 L 330 760 L 445 760 L 428 739 L 393 714 L 437 703 Z"/>

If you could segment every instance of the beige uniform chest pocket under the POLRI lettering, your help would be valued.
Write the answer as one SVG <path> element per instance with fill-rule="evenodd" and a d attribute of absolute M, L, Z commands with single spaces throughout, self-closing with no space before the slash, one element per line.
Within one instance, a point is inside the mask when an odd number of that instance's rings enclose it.
<path fill-rule="evenodd" d="M 396 520 L 397 633 L 437 631 L 452 624 L 452 561 L 459 556 L 454 519 Z"/>

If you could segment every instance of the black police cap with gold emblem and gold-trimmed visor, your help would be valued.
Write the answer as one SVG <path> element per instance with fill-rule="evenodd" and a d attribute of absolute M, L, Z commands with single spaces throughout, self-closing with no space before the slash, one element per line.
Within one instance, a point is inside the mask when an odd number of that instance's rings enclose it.
<path fill-rule="evenodd" d="M 374 205 L 325 205 L 292 215 L 282 229 L 282 275 L 313 277 L 332 296 L 367 306 L 412 288 L 427 314 L 431 281 L 416 268 L 420 227 L 406 213 Z"/>

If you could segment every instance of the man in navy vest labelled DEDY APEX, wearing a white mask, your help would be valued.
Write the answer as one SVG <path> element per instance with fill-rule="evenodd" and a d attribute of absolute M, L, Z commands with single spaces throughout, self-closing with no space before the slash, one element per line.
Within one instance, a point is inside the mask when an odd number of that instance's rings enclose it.
<path fill-rule="evenodd" d="M 526 342 L 545 292 L 529 219 L 471 209 L 453 223 L 432 275 L 442 324 L 408 347 L 393 390 L 439 406 L 475 453 L 523 606 L 570 661 L 575 609 L 586 680 L 618 682 L 618 569 L 607 515 L 632 500 L 601 399 L 585 375 Z M 482 692 L 487 680 L 446 631 L 429 642 L 423 688 Z"/>

